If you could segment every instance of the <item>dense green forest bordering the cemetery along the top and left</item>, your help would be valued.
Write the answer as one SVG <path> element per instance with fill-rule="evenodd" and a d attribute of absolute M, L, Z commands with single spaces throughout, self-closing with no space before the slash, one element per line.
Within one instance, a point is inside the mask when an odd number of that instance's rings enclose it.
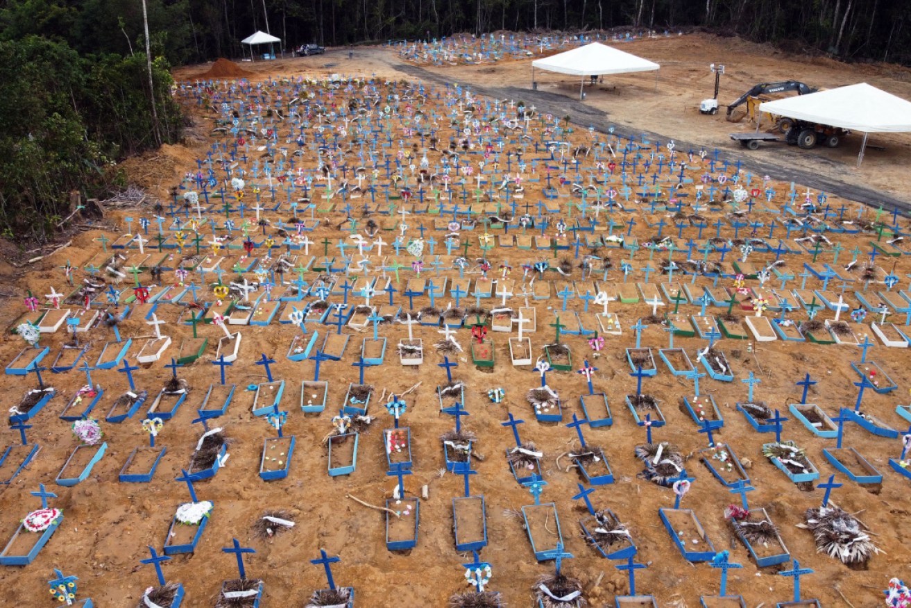
<path fill-rule="evenodd" d="M 288 51 L 498 29 L 699 27 L 911 64 L 909 15 L 911 0 L 0 0 L 0 231 L 44 238 L 68 191 L 103 193 L 116 185 L 112 162 L 179 140 L 170 66 L 241 57 L 258 29 Z"/>

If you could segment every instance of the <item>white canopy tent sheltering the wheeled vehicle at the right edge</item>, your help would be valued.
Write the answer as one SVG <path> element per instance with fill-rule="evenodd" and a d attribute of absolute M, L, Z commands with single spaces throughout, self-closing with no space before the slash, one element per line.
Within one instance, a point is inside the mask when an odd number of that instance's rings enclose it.
<path fill-rule="evenodd" d="M 794 98 L 766 101 L 760 111 L 789 119 L 864 133 L 857 166 L 864 160 L 866 138 L 870 133 L 911 131 L 911 101 L 862 82 L 848 87 L 830 88 Z"/>

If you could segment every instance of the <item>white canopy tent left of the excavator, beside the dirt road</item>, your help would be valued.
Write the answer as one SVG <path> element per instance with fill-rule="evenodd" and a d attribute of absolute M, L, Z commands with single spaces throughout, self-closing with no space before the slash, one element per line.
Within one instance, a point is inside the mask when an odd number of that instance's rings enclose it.
<path fill-rule="evenodd" d="M 629 74 L 630 72 L 649 72 L 657 70 L 657 63 L 636 57 L 612 46 L 593 42 L 590 45 L 579 46 L 558 55 L 535 59 L 531 62 L 531 82 L 535 83 L 535 68 L 558 72 L 570 76 L 582 77 L 579 85 L 579 97 L 582 97 L 582 87 L 587 76 L 603 76 L 606 74 Z M 655 74 L 658 82 L 658 74 Z"/>

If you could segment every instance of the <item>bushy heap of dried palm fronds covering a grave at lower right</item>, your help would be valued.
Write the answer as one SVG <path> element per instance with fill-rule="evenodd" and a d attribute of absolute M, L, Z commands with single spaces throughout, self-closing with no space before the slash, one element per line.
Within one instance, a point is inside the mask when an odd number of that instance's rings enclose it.
<path fill-rule="evenodd" d="M 861 565 L 880 552 L 862 530 L 861 523 L 845 510 L 829 505 L 814 507 L 804 513 L 806 525 L 813 532 L 816 551 L 848 565 Z"/>

